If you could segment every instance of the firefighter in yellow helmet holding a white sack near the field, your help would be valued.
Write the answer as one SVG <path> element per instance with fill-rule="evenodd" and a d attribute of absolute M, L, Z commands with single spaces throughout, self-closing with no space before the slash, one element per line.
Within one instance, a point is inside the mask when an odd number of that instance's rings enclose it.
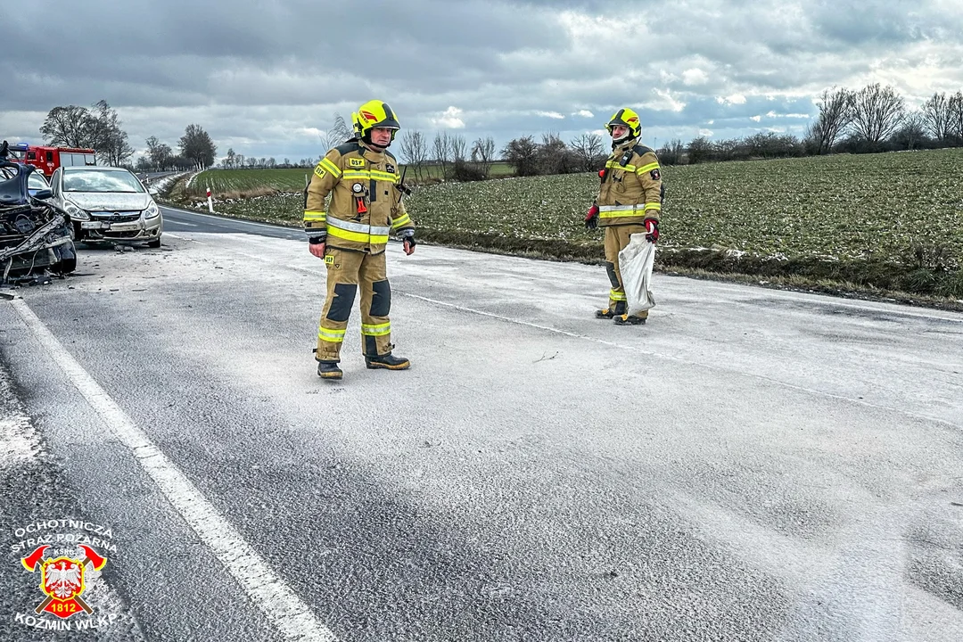
<path fill-rule="evenodd" d="M 652 244 L 659 241 L 662 173 L 655 151 L 638 142 L 642 133 L 638 114 L 628 108 L 620 109 L 610 118 L 606 129 L 612 136 L 612 155 L 599 172 L 602 179 L 599 195 L 585 219 L 586 229 L 605 228 L 605 265 L 612 284 L 609 305 L 596 310 L 595 318 L 612 319 L 618 325 L 640 325 L 649 313 L 626 314 L 618 252 L 629 244 L 633 234 L 645 234 L 645 239 Z"/>

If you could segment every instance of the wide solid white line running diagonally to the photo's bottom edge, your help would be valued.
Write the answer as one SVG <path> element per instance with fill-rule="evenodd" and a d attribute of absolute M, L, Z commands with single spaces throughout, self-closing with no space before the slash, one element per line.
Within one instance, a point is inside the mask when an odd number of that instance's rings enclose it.
<path fill-rule="evenodd" d="M 214 552 L 251 601 L 288 640 L 333 642 L 337 638 L 318 621 L 307 604 L 245 541 L 241 533 L 197 490 L 187 475 L 157 448 L 103 388 L 70 356 L 65 347 L 21 298 L 11 301 L 14 311 L 37 336 L 51 359 L 65 372 L 80 394 L 140 462 L 178 513 Z"/>

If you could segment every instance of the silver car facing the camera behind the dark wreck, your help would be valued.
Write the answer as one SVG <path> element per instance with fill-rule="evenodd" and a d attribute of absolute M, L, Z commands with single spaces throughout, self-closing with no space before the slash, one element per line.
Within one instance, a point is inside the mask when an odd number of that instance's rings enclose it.
<path fill-rule="evenodd" d="M 55 203 L 83 243 L 146 243 L 161 246 L 164 218 L 153 193 L 120 167 L 60 167 L 50 178 Z"/>

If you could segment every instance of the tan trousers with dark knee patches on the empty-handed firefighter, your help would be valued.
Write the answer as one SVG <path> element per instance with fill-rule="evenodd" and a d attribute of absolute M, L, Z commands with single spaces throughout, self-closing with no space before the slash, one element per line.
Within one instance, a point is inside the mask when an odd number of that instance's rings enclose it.
<path fill-rule="evenodd" d="M 375 357 L 391 352 L 391 286 L 385 272 L 385 253 L 352 252 L 337 247 L 325 250 L 327 294 L 318 327 L 318 361 L 341 360 L 341 344 L 361 290 L 361 352 Z"/>

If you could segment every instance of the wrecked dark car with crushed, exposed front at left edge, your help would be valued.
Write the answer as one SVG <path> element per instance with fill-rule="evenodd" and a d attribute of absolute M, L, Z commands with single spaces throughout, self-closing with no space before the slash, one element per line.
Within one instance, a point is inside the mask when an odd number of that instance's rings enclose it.
<path fill-rule="evenodd" d="M 10 162 L 0 145 L 0 283 L 77 269 L 69 221 L 49 190 L 31 184 L 35 169 Z"/>

